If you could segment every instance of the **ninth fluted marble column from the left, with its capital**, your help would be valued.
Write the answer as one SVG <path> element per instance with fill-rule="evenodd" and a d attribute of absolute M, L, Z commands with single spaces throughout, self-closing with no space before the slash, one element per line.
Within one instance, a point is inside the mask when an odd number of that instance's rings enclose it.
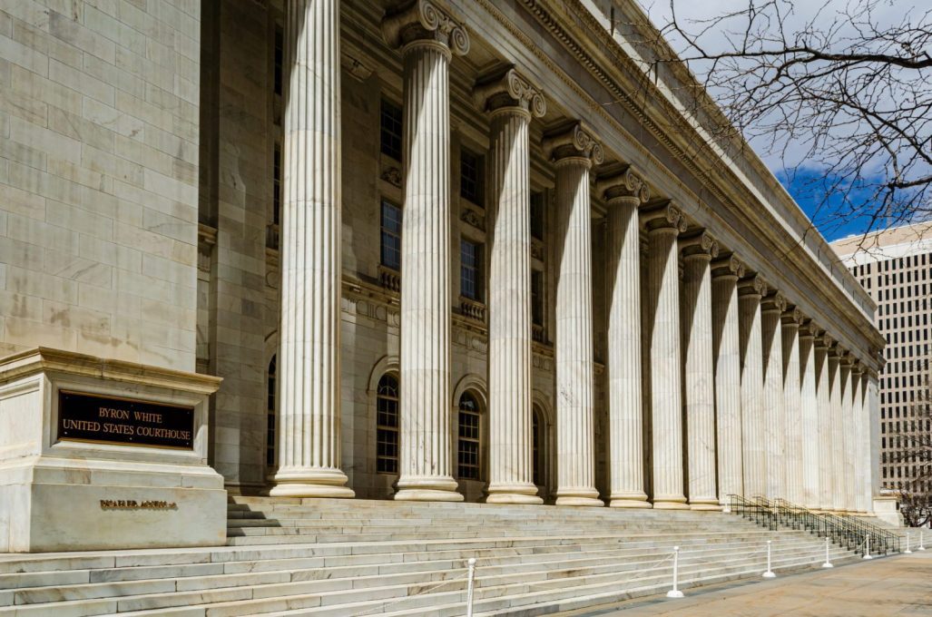
<path fill-rule="evenodd" d="M 767 286 L 759 276 L 738 283 L 738 324 L 741 343 L 741 435 L 744 447 L 745 495 L 767 491 L 763 449 L 763 357 L 761 296 Z"/>

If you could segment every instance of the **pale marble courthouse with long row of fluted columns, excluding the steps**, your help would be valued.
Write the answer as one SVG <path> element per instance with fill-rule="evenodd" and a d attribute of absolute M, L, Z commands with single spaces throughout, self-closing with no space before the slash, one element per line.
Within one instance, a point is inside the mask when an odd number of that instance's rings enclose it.
<path fill-rule="evenodd" d="M 872 512 L 874 301 L 672 55 L 633 0 L 4 3 L 0 552 Z"/>

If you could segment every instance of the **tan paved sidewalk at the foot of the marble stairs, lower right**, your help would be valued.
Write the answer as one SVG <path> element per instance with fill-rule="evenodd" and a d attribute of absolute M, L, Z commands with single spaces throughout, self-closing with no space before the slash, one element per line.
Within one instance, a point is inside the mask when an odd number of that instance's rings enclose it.
<path fill-rule="evenodd" d="M 652 596 L 574 615 L 681 617 L 932 617 L 932 549 L 836 569 L 780 576 L 773 581 L 688 589 L 686 597 Z M 570 614 L 570 613 L 568 613 Z"/>

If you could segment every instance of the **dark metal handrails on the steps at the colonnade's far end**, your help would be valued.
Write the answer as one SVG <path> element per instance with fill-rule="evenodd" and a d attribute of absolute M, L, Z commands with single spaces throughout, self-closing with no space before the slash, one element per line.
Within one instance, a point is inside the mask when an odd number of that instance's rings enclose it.
<path fill-rule="evenodd" d="M 764 497 L 747 499 L 730 495 L 732 512 L 744 516 L 771 530 L 789 528 L 806 530 L 849 551 L 864 555 L 870 539 L 872 555 L 899 553 L 899 536 L 884 528 L 870 525 L 852 516 L 815 513 L 801 505 L 783 499 Z"/>

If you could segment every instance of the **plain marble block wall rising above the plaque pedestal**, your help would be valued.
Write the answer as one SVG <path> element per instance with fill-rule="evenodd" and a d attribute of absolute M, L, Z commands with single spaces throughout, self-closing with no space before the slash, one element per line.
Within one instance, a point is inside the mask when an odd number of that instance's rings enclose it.
<path fill-rule="evenodd" d="M 0 3 L 0 354 L 194 370 L 200 3 Z"/>

